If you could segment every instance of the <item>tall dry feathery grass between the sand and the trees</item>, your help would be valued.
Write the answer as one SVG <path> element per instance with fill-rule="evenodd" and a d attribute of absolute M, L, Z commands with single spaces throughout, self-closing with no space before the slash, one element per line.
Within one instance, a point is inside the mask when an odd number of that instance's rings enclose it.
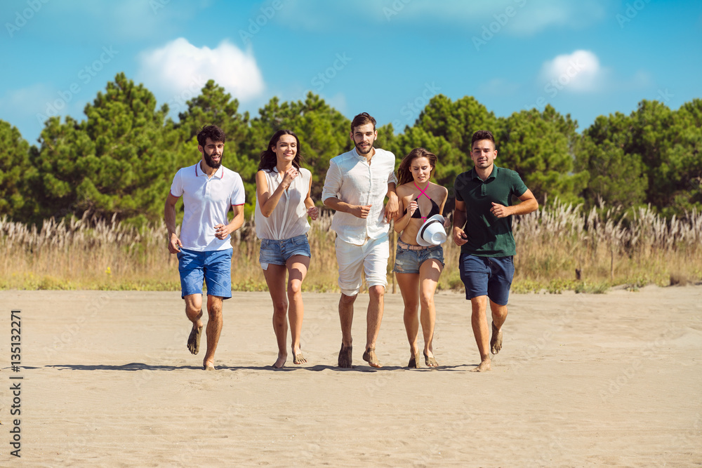
<path fill-rule="evenodd" d="M 337 290 L 331 214 L 312 222 L 305 290 Z M 469 228 L 470 229 L 470 228 Z M 550 203 L 515 218 L 512 289 L 602 292 L 627 284 L 668 285 L 702 279 L 702 214 L 665 220 L 651 208 L 624 215 L 619 208 Z M 232 239 L 232 288 L 266 290 L 252 220 Z M 180 290 L 178 261 L 166 250 L 166 227 L 135 229 L 115 222 L 46 220 L 27 227 L 0 219 L 1 289 Z M 459 248 L 444 244 L 440 289 L 462 288 Z M 392 255 L 391 255 L 392 259 Z M 392 265 L 388 266 L 388 272 Z M 580 279 L 576 280 L 576 269 Z M 392 274 L 388 281 L 392 285 Z M 392 286 L 389 287 L 392 290 Z"/>

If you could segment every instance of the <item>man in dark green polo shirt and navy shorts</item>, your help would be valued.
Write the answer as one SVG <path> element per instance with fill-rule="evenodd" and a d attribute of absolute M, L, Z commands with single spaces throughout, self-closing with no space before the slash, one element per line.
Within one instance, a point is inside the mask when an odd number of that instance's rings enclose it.
<path fill-rule="evenodd" d="M 480 352 L 475 372 L 490 370 L 490 354 L 502 348 L 502 326 L 507 318 L 515 265 L 512 215 L 526 215 L 538 208 L 531 190 L 515 171 L 499 168 L 495 138 L 489 131 L 473 133 L 470 159 L 474 167 L 453 184 L 453 242 L 461 246 L 458 263 L 465 298 L 472 307 L 471 325 Z M 512 206 L 512 197 L 522 202 Z M 465 227 L 465 231 L 464 231 Z M 492 338 L 487 328 L 487 301 L 492 312 Z"/>

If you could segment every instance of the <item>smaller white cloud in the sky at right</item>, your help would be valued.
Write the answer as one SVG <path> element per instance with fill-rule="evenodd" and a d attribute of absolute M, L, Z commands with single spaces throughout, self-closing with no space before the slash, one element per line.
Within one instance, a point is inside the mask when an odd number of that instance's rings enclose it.
<path fill-rule="evenodd" d="M 557 89 L 583 93 L 600 91 L 607 70 L 600 66 L 600 59 L 590 51 L 557 55 L 541 67 L 541 79 Z M 548 85 L 547 85 L 548 86 Z"/>

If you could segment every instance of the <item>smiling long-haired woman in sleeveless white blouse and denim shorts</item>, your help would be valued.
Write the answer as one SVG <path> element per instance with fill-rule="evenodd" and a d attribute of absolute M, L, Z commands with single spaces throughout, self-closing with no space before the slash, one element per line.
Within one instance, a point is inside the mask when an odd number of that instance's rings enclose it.
<path fill-rule="evenodd" d="M 273 367 L 277 369 L 288 358 L 288 319 L 293 363 L 307 362 L 300 352 L 304 315 L 301 287 L 311 256 L 307 216 L 316 220 L 319 215 L 310 197 L 311 187 L 312 173 L 300 167 L 297 135 L 289 130 L 277 131 L 260 154 L 255 214 L 256 235 L 261 239 L 259 262 L 273 300 L 273 330 L 278 344 L 278 359 Z"/>

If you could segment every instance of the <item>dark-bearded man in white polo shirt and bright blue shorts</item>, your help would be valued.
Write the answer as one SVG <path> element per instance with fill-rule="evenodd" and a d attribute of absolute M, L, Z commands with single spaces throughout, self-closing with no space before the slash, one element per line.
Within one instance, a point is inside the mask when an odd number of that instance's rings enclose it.
<path fill-rule="evenodd" d="M 244 183 L 222 166 L 226 136 L 221 128 L 205 126 L 197 134 L 201 160 L 182 168 L 173 178 L 164 217 L 168 252 L 178 255 L 181 297 L 192 322 L 187 349 L 197 354 L 202 333 L 202 281 L 207 286 L 207 351 L 205 370 L 214 370 L 215 350 L 222 331 L 222 301 L 232 297 L 230 234 L 244 224 Z M 183 196 L 183 226 L 176 234 L 176 202 Z M 227 222 L 229 207 L 234 218 Z"/>

